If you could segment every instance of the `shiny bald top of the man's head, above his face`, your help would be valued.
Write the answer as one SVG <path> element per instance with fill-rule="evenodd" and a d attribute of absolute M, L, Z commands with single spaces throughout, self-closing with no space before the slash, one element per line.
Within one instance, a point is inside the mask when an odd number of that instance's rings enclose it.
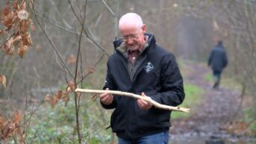
<path fill-rule="evenodd" d="M 119 19 L 119 28 L 122 25 L 137 25 L 138 28 L 141 28 L 143 19 L 137 13 L 126 13 Z"/>

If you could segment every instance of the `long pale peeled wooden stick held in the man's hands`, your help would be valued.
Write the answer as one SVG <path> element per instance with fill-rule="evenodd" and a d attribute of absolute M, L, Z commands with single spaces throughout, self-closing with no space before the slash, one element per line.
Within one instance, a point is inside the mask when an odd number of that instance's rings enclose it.
<path fill-rule="evenodd" d="M 126 93 L 126 92 L 121 92 L 121 91 L 116 91 L 116 90 L 87 90 L 87 89 L 76 89 L 75 92 L 80 92 L 80 93 L 110 93 L 113 95 L 119 95 L 119 96 L 129 96 L 132 98 L 142 98 L 144 101 L 147 101 L 151 104 L 154 105 L 154 107 L 158 107 L 164 110 L 175 110 L 175 111 L 181 111 L 185 113 L 190 113 L 190 108 L 184 108 L 184 107 L 172 107 L 169 105 L 165 104 L 159 104 L 157 101 L 152 100 L 151 98 L 147 98 L 144 96 L 136 95 L 133 93 Z"/>

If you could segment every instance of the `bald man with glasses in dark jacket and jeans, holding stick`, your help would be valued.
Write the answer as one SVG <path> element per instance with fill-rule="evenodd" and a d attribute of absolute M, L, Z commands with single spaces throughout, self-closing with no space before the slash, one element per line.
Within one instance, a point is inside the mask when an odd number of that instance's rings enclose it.
<path fill-rule="evenodd" d="M 122 39 L 107 61 L 104 89 L 141 94 L 160 104 L 178 106 L 184 100 L 183 78 L 174 55 L 157 45 L 137 13 L 119 19 Z M 170 114 L 143 99 L 100 96 L 102 107 L 115 110 L 110 127 L 119 144 L 168 144 Z"/>

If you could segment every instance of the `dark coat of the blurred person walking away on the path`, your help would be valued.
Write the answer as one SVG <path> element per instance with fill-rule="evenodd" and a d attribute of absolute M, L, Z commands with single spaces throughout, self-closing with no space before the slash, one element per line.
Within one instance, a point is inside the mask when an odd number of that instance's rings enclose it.
<path fill-rule="evenodd" d="M 228 57 L 222 45 L 217 45 L 210 51 L 208 66 L 214 71 L 222 72 L 222 69 L 228 65 Z"/>

